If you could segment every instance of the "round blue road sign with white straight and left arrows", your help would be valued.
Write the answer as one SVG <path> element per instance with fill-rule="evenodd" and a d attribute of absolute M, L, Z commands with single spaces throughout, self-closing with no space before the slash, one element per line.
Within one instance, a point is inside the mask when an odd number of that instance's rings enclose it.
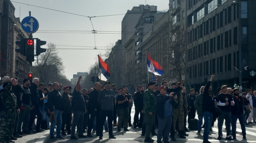
<path fill-rule="evenodd" d="M 38 30 L 39 23 L 34 17 L 27 16 L 26 18 L 22 19 L 21 27 L 27 33 L 34 33 Z"/>

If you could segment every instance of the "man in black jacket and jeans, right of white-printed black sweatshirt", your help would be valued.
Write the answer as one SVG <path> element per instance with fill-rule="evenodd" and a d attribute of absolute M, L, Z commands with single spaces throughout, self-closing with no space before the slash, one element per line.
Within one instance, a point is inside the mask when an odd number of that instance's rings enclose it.
<path fill-rule="evenodd" d="M 244 98 L 239 95 L 239 89 L 233 89 L 234 95 L 234 106 L 231 107 L 231 125 L 232 125 L 232 135 L 233 139 L 236 140 L 236 129 L 237 129 L 237 119 L 241 125 L 243 139 L 246 139 L 246 131 L 244 124 Z"/>

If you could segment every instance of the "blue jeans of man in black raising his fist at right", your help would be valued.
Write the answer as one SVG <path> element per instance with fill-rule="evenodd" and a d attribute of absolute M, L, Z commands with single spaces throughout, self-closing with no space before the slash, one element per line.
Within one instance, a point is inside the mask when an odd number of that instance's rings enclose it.
<path fill-rule="evenodd" d="M 203 135 L 204 142 L 208 141 L 212 118 L 213 118 L 213 115 L 211 112 L 204 112 L 204 135 Z"/>

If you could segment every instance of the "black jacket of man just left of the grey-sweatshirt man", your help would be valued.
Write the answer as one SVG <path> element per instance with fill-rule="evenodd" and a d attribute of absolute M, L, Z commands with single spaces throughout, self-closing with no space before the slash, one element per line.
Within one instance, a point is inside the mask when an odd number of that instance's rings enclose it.
<path fill-rule="evenodd" d="M 88 102 L 88 109 L 90 111 L 94 111 L 95 108 L 97 111 L 101 109 L 101 105 L 98 103 L 98 96 L 99 96 L 99 91 L 94 89 L 90 94 L 89 94 L 89 102 Z"/>

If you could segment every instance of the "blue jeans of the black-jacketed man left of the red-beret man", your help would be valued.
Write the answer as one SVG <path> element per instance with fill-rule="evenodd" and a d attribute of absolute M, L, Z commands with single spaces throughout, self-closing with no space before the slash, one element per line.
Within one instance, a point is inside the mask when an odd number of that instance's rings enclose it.
<path fill-rule="evenodd" d="M 56 134 L 57 136 L 60 136 L 60 129 L 61 129 L 61 124 L 62 124 L 62 120 L 61 120 L 61 111 L 55 109 L 54 111 L 55 117 L 57 119 L 57 128 L 56 128 Z M 54 117 L 52 117 L 52 123 L 50 126 L 50 136 L 54 136 L 54 127 L 55 127 L 56 123 L 54 120 Z"/>

